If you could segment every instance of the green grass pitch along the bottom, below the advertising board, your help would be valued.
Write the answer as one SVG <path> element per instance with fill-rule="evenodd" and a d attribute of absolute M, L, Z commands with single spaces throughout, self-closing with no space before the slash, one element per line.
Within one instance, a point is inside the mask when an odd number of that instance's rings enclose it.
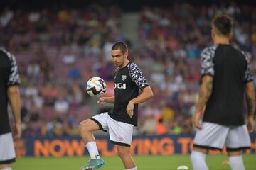
<path fill-rule="evenodd" d="M 256 169 L 256 154 L 244 155 L 245 167 L 247 170 Z M 102 157 L 105 160 L 105 166 L 100 170 L 122 170 L 124 169 L 119 157 Z M 209 169 L 228 170 L 229 166 L 222 165 L 227 159 L 226 156 L 208 156 L 206 161 Z M 13 164 L 15 170 L 79 170 L 80 166 L 87 163 L 89 157 L 60 157 L 60 158 L 18 158 Z M 191 169 L 189 156 L 134 156 L 138 170 L 171 170 L 180 165 L 186 165 Z"/>

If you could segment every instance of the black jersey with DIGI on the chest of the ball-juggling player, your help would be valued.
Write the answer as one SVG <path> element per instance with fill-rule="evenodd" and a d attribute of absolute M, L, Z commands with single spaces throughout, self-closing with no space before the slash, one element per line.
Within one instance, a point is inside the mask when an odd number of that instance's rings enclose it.
<path fill-rule="evenodd" d="M 126 67 L 118 68 L 114 73 L 114 108 L 109 115 L 114 120 L 137 125 L 138 105 L 134 106 L 134 115 L 129 117 L 126 108 L 132 98 L 139 95 L 139 89 L 144 89 L 149 84 L 143 77 L 139 67 L 129 62 Z"/>

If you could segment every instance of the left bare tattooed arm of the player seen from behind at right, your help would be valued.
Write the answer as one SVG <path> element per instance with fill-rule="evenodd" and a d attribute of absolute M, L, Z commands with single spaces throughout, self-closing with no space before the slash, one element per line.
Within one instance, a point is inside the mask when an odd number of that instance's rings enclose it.
<path fill-rule="evenodd" d="M 201 129 L 199 121 L 201 120 L 201 115 L 203 114 L 203 108 L 206 106 L 208 99 L 213 90 L 213 77 L 205 75 L 202 78 L 201 89 L 199 91 L 198 102 L 196 103 L 196 110 L 193 113 L 192 123 L 195 128 Z"/>

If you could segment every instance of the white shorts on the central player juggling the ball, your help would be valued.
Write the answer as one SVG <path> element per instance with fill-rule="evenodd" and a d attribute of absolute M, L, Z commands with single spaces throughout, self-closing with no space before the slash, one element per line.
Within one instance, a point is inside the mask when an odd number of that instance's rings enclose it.
<path fill-rule="evenodd" d="M 107 112 L 95 115 L 91 118 L 100 127 L 100 130 L 110 133 L 110 141 L 115 145 L 130 147 L 134 125 L 119 122 L 110 118 Z"/>

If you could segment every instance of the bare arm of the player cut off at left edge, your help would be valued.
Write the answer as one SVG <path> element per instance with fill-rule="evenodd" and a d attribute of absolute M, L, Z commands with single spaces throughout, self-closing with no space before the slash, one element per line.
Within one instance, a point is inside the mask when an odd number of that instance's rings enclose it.
<path fill-rule="evenodd" d="M 21 98 L 18 86 L 9 86 L 8 88 L 9 103 L 11 105 L 16 128 L 16 138 L 21 137 Z"/>

